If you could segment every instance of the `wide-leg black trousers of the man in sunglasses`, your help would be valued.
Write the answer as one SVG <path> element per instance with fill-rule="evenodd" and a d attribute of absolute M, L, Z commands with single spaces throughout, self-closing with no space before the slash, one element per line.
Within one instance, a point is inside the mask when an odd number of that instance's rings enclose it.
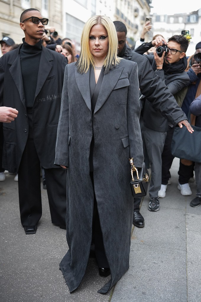
<path fill-rule="evenodd" d="M 20 218 L 22 225 L 37 225 L 42 216 L 40 161 L 32 135 L 32 113 L 27 111 L 29 135 L 18 171 Z M 52 223 L 65 225 L 66 170 L 44 169 Z"/>

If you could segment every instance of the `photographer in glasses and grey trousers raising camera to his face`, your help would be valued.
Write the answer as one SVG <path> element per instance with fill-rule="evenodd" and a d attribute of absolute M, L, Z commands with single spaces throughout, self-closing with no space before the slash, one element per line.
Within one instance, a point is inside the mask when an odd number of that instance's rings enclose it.
<path fill-rule="evenodd" d="M 188 40 L 181 35 L 171 37 L 168 43 L 164 38 L 156 38 L 152 42 L 142 44 L 135 51 L 143 54 L 152 46 L 155 46 L 153 54 L 147 55 L 152 69 L 165 82 L 168 90 L 175 95 L 183 87 L 187 86 L 190 81 L 188 74 L 184 71 L 187 67 L 185 53 L 188 48 Z M 149 210 L 158 211 L 160 207 L 158 192 L 161 188 L 162 180 L 161 156 L 168 130 L 168 122 L 159 111 L 153 108 L 148 100 L 145 101 L 143 108 L 143 122 L 142 136 L 152 173 L 149 189 Z"/>

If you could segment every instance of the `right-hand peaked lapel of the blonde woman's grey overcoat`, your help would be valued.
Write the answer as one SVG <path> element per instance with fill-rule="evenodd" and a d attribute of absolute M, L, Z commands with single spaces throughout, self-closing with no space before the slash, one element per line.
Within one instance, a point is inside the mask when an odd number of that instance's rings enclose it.
<path fill-rule="evenodd" d="M 115 87 L 118 79 L 120 78 L 123 70 L 124 66 L 117 67 L 115 69 L 111 69 L 108 74 L 104 75 L 99 91 L 99 96 L 97 98 L 94 114 L 102 107 L 102 105 L 107 100 L 108 96 Z"/>

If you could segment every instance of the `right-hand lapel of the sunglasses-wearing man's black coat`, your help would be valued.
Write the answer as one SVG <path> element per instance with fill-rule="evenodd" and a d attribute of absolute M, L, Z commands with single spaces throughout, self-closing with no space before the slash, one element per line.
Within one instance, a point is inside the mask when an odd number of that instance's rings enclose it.
<path fill-rule="evenodd" d="M 51 64 L 50 61 L 53 61 L 53 58 L 49 55 L 49 52 L 46 51 L 44 47 L 42 47 L 34 100 L 36 99 L 36 96 L 39 94 L 42 86 L 44 85 L 50 73 L 50 70 L 52 69 L 53 64 Z"/>

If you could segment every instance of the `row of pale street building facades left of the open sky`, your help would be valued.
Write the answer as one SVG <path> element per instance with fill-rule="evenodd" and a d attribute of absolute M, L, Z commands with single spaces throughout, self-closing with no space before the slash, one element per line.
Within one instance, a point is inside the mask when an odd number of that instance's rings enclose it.
<path fill-rule="evenodd" d="M 32 7 L 49 18 L 47 27 L 54 27 L 59 37 L 70 38 L 77 51 L 84 23 L 96 14 L 124 22 L 127 38 L 132 42 L 140 38 L 150 3 L 151 0 L 0 0 L 0 38 L 8 36 L 21 43 L 24 33 L 19 26 L 20 15 Z"/>

